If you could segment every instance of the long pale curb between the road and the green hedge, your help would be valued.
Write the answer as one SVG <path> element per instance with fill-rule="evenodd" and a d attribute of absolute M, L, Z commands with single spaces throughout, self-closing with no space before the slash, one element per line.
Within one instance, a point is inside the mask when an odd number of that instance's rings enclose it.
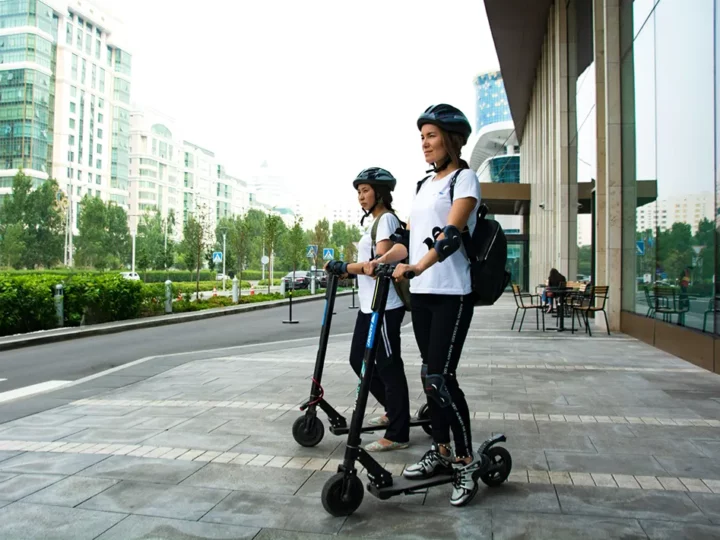
<path fill-rule="evenodd" d="M 352 291 L 342 291 L 337 293 L 337 297 L 348 296 Z M 301 296 L 293 299 L 293 304 L 302 304 L 304 302 L 314 302 L 324 300 L 325 295 Z M 140 328 L 155 328 L 158 326 L 168 326 L 171 324 L 180 324 L 184 322 L 199 321 L 203 319 L 212 319 L 214 317 L 223 317 L 225 315 L 237 315 L 247 311 L 259 311 L 274 307 L 286 306 L 290 303 L 289 299 L 270 300 L 267 302 L 257 302 L 255 304 L 244 304 L 241 306 L 230 306 L 223 308 L 206 309 L 202 311 L 194 311 L 190 313 L 178 313 L 175 315 L 160 315 L 157 317 L 148 317 L 146 319 L 132 319 L 126 322 L 112 322 L 80 329 L 55 329 L 42 330 L 33 333 L 32 336 L 18 337 L 9 339 L 8 341 L 0 341 L 0 351 L 10 351 L 13 349 L 21 349 L 23 347 L 33 347 L 35 345 L 46 345 L 48 343 L 58 343 L 61 341 L 69 341 L 71 339 L 103 336 L 107 334 L 119 334 L 129 330 L 137 330 Z M 37 335 L 40 334 L 40 335 Z"/>

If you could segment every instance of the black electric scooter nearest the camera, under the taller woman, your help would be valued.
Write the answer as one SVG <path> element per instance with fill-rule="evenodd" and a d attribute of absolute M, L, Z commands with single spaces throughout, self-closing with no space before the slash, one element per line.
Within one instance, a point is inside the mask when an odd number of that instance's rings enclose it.
<path fill-rule="evenodd" d="M 363 484 L 358 478 L 358 471 L 355 463 L 359 461 L 367 470 L 369 483 L 367 490 L 375 497 L 385 500 L 403 493 L 416 493 L 426 488 L 451 484 L 456 480 L 457 472 L 454 468 L 449 474 L 439 474 L 432 478 L 410 480 L 403 476 L 393 477 L 384 469 L 370 454 L 361 446 L 360 435 L 362 433 L 362 421 L 365 416 L 368 394 L 370 392 L 370 380 L 375 366 L 375 354 L 378 343 L 376 338 L 377 329 L 382 327 L 387 303 L 388 291 L 392 287 L 392 273 L 395 265 L 378 265 L 376 268 L 377 280 L 375 283 L 375 296 L 373 298 L 373 314 L 370 322 L 370 329 L 365 345 L 365 356 L 363 358 L 362 378 L 357 390 L 355 411 L 353 412 L 348 433 L 345 457 L 342 464 L 338 466 L 338 472 L 332 476 L 323 487 L 322 504 L 325 510 L 333 516 L 349 516 L 360 507 L 363 500 Z M 407 279 L 412 279 L 412 272 L 406 273 Z M 477 481 L 482 481 L 488 486 L 498 486 L 507 480 L 512 469 L 512 458 L 510 452 L 498 443 L 505 442 L 505 435 L 495 435 L 480 445 L 479 454 L 484 454 L 489 459 L 486 466 L 479 468 L 473 474 L 475 490 L 477 492 Z M 467 501 L 470 502 L 472 497 Z"/>

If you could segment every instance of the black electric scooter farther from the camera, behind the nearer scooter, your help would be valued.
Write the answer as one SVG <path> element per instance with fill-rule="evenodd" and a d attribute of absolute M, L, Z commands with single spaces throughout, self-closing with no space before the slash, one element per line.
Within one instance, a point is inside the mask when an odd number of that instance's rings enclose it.
<path fill-rule="evenodd" d="M 310 386 L 310 398 L 300 406 L 305 414 L 300 416 L 293 423 L 292 434 L 295 442 L 301 446 L 311 447 L 317 445 L 325 434 L 325 427 L 317 417 L 318 407 L 327 415 L 330 420 L 330 433 L 333 435 L 347 435 L 350 431 L 347 419 L 337 412 L 324 398 L 325 391 L 322 387 L 322 373 L 325 366 L 325 353 L 327 352 L 328 339 L 330 338 L 330 325 L 335 307 L 335 296 L 339 276 L 330 272 L 327 289 L 325 291 L 325 311 L 323 312 L 322 326 L 320 328 L 320 344 L 315 359 L 315 370 Z M 363 409 L 364 413 L 364 409 Z M 432 433 L 430 427 L 430 413 L 427 404 L 418 409 L 417 414 L 410 418 L 410 427 L 421 427 L 425 433 Z M 381 431 L 384 426 L 363 426 L 362 419 L 359 430 L 361 433 L 370 431 Z"/>

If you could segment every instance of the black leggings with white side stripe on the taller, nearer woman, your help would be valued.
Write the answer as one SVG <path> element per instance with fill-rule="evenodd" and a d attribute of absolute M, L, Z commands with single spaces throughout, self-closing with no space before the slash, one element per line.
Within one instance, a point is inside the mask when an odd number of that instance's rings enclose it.
<path fill-rule="evenodd" d="M 470 411 L 456 376 L 472 317 L 471 295 L 412 295 L 413 330 L 423 370 L 427 369 L 427 375 L 442 375 L 450 397 L 449 403 L 440 406 L 435 398 L 427 396 L 433 440 L 449 443 L 452 429 L 458 457 L 472 454 Z"/>

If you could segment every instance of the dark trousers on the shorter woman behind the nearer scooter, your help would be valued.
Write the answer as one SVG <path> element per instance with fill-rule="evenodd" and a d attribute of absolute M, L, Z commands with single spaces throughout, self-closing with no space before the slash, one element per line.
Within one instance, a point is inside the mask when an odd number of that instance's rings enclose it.
<path fill-rule="evenodd" d="M 355 321 L 355 332 L 350 346 L 350 365 L 358 377 L 362 369 L 371 317 L 371 313 L 359 312 Z M 410 440 L 410 398 L 405 366 L 400 356 L 400 327 L 404 317 L 405 308 L 385 312 L 382 328 L 375 336 L 378 347 L 375 369 L 370 381 L 370 393 L 385 407 L 390 421 L 385 438 L 399 443 Z"/>

